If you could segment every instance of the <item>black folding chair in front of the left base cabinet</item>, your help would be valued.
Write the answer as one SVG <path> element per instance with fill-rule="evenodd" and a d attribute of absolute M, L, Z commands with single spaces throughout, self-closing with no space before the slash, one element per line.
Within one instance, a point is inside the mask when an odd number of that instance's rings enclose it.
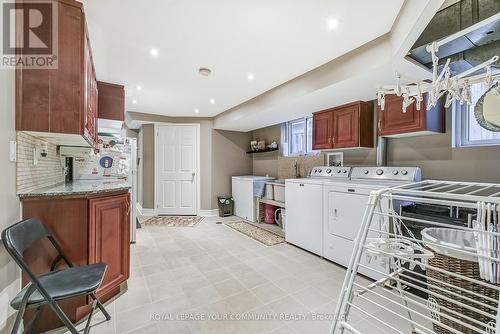
<path fill-rule="evenodd" d="M 30 271 L 24 261 L 23 253 L 36 241 L 43 238 L 49 239 L 57 250 L 58 255 L 54 259 L 48 273 L 36 276 Z M 78 330 L 75 325 L 56 303 L 57 301 L 77 296 L 90 296 L 93 299 L 90 315 L 84 330 L 85 334 L 90 331 L 90 321 L 96 307 L 101 310 L 106 320 L 111 319 L 111 316 L 95 295 L 95 290 L 101 285 L 106 273 L 106 264 L 96 263 L 75 267 L 64 255 L 61 246 L 52 234 L 35 218 L 23 220 L 3 230 L 2 241 L 7 252 L 30 279 L 30 283 L 10 303 L 14 309 L 18 310 L 12 334 L 17 334 L 24 312 L 27 309 L 36 309 L 34 316 L 25 328 L 25 332 L 32 333 L 36 326 L 41 307 L 45 304 L 50 306 L 72 334 L 77 334 Z M 64 260 L 69 268 L 55 271 L 57 264 L 61 260 Z"/>

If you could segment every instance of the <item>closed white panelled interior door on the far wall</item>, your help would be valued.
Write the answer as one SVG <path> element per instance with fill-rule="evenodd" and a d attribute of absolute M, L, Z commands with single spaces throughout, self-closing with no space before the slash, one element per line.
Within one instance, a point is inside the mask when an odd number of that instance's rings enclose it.
<path fill-rule="evenodd" d="M 158 214 L 196 215 L 198 198 L 196 125 L 158 126 L 156 201 Z"/>

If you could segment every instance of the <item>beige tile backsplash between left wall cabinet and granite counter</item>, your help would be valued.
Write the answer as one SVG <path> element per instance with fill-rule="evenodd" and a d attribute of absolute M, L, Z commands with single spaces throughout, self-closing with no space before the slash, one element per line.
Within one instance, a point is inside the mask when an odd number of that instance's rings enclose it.
<path fill-rule="evenodd" d="M 17 132 L 17 193 L 64 182 L 64 166 L 56 145 L 48 143 L 47 157 L 37 152 L 38 164 L 33 165 L 33 149 L 40 149 L 42 142 L 27 133 Z"/>

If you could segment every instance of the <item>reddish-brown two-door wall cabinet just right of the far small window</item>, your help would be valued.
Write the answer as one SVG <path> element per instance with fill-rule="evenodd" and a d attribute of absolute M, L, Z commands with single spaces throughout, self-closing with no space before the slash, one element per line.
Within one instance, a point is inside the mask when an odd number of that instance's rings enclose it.
<path fill-rule="evenodd" d="M 358 101 L 313 114 L 313 149 L 373 147 L 373 104 Z"/>

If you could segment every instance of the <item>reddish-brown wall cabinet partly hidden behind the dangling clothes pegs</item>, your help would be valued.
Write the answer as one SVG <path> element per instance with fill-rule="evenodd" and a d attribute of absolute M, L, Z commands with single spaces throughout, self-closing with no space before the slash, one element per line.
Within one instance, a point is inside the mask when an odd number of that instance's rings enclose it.
<path fill-rule="evenodd" d="M 378 112 L 378 135 L 385 137 L 402 137 L 411 135 L 425 135 L 445 132 L 445 110 L 443 101 L 431 110 L 427 109 L 427 96 L 420 110 L 417 110 L 415 102 L 406 112 L 403 112 L 403 98 L 397 95 L 386 95 L 385 107 Z"/>

